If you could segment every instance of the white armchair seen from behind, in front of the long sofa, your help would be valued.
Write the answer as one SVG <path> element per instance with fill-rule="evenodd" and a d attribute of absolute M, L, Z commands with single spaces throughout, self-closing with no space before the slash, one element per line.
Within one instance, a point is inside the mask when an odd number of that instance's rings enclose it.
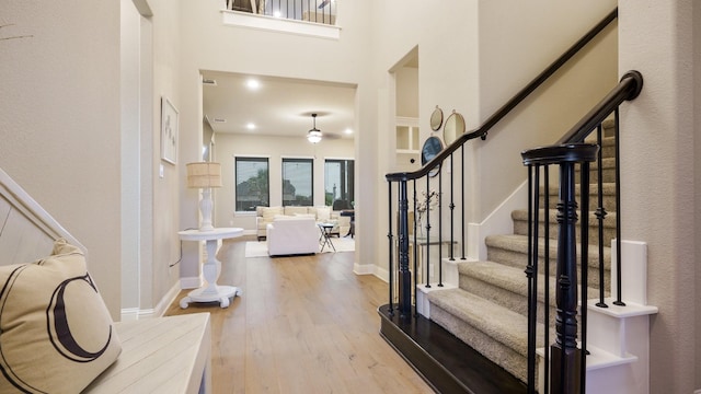
<path fill-rule="evenodd" d="M 280 256 L 317 253 L 320 234 L 314 218 L 277 218 L 266 227 L 267 254 Z"/>

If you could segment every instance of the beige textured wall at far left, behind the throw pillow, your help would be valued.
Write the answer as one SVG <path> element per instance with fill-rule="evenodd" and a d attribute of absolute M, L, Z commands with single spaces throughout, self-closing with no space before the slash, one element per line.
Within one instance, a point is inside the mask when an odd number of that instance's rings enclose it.
<path fill-rule="evenodd" d="M 3 1 L 0 166 L 89 250 L 120 301 L 119 2 Z M 47 251 L 47 253 L 50 251 Z"/>

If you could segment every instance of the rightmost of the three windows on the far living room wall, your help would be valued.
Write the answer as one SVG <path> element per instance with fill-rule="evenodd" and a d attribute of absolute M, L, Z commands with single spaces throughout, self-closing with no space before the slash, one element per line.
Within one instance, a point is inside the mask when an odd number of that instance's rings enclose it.
<path fill-rule="evenodd" d="M 334 210 L 353 209 L 355 190 L 353 189 L 353 160 L 326 160 L 324 163 L 324 201 Z"/>

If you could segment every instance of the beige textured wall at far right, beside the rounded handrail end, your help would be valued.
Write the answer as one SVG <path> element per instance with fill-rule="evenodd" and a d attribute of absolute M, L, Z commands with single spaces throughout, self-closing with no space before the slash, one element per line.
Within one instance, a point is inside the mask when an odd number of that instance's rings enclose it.
<path fill-rule="evenodd" d="M 620 71 L 636 69 L 644 78 L 641 95 L 622 113 L 620 211 L 623 237 L 647 242 L 648 302 L 659 308 L 651 323 L 651 393 L 700 387 L 701 335 L 692 306 L 699 289 L 694 109 L 701 94 L 693 30 L 700 7 L 692 0 L 619 4 Z"/>

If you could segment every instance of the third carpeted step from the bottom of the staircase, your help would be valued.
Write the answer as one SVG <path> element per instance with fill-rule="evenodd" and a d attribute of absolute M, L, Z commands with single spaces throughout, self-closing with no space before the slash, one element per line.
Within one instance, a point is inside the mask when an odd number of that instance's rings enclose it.
<path fill-rule="evenodd" d="M 507 234 L 507 235 L 487 235 L 484 240 L 485 244 L 490 248 L 497 248 L 502 251 L 516 252 L 525 255 L 524 258 L 524 268 L 528 263 L 528 236 L 520 234 Z M 555 256 L 558 256 L 558 242 L 555 240 L 550 240 L 550 256 L 551 264 L 554 266 Z M 545 251 L 545 242 L 544 239 L 541 237 L 538 242 L 538 254 L 539 256 L 544 256 Z M 577 256 L 581 256 L 581 245 L 577 244 Z M 591 268 L 598 268 L 599 266 L 599 246 L 598 245 L 589 245 L 588 247 L 588 266 Z M 608 246 L 604 247 L 604 268 L 606 270 L 611 269 L 611 248 Z"/>

